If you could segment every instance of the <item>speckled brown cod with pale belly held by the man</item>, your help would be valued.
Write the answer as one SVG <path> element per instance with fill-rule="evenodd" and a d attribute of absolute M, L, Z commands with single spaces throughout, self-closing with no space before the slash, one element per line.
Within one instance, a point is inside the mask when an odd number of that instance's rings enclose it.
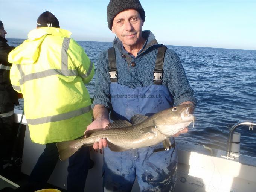
<path fill-rule="evenodd" d="M 83 139 L 58 142 L 59 158 L 66 160 L 81 146 L 91 146 L 100 138 L 106 138 L 108 147 L 116 152 L 156 145 L 160 142 L 163 142 L 165 149 L 169 149 L 171 143 L 168 137 L 194 122 L 195 117 L 190 114 L 193 108 L 192 104 L 178 105 L 150 117 L 134 115 L 131 117 L 131 123 L 116 120 L 108 124 L 106 129 L 86 131 Z"/>

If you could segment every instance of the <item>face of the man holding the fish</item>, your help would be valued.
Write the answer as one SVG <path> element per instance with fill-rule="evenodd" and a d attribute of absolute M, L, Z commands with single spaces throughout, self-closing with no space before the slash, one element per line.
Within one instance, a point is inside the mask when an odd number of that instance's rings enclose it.
<path fill-rule="evenodd" d="M 128 9 L 120 12 L 113 20 L 112 32 L 124 45 L 134 46 L 142 37 L 143 21 L 138 11 Z"/>

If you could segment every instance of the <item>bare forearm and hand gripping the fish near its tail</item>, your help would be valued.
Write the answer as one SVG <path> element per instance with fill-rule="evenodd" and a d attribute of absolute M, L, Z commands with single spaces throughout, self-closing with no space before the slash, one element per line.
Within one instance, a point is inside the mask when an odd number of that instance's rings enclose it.
<path fill-rule="evenodd" d="M 90 125 L 87 126 L 86 131 L 94 130 L 94 129 L 105 129 L 106 126 L 110 123 L 108 118 L 108 110 L 103 105 L 94 106 L 93 116 L 95 120 Z M 99 142 L 95 142 L 93 144 L 94 149 L 102 149 L 103 147 L 106 147 L 106 146 L 107 146 L 106 138 L 100 139 Z"/>

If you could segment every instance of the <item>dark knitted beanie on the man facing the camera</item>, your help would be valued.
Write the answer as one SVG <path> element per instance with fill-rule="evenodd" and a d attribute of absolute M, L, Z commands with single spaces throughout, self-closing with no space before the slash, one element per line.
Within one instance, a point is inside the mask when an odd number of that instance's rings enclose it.
<path fill-rule="evenodd" d="M 126 9 L 135 9 L 140 13 L 142 20 L 145 21 L 145 11 L 139 0 L 110 0 L 107 6 L 108 28 L 110 30 L 116 15 Z"/>

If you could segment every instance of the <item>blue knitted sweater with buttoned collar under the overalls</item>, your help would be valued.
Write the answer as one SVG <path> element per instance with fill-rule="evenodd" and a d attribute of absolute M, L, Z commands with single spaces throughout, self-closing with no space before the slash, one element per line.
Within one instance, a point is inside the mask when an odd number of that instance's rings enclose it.
<path fill-rule="evenodd" d="M 149 30 L 143 31 L 142 36 L 146 39 L 146 45 L 135 58 L 123 51 L 122 43 L 118 38 L 113 41 L 116 52 L 117 83 L 130 88 L 153 85 L 155 60 L 159 45 Z M 134 67 L 131 66 L 132 62 L 136 64 Z M 100 53 L 98 58 L 92 107 L 101 104 L 108 110 L 111 109 L 111 82 L 108 68 L 108 52 L 105 50 Z M 194 91 L 189 85 L 180 58 L 171 49 L 167 49 L 165 53 L 162 80 L 162 85 L 166 85 L 173 96 L 174 105 L 179 105 L 185 101 L 196 104 L 197 101 L 193 96 Z"/>

